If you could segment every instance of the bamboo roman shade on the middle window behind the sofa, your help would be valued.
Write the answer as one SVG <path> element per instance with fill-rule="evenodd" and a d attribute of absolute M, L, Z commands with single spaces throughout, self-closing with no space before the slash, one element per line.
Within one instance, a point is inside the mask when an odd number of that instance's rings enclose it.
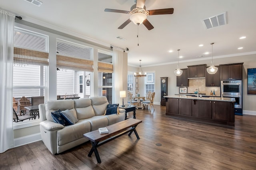
<path fill-rule="evenodd" d="M 57 55 L 57 68 L 93 72 L 93 61 Z"/>

